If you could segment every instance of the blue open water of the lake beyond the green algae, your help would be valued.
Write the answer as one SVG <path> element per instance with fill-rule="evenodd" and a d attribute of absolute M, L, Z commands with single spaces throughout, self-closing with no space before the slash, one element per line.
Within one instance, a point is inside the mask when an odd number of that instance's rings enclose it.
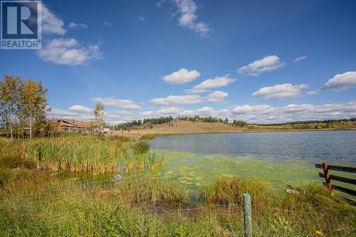
<path fill-rule="evenodd" d="M 356 163 L 355 131 L 254 132 L 156 137 L 154 149 L 253 159 Z"/>

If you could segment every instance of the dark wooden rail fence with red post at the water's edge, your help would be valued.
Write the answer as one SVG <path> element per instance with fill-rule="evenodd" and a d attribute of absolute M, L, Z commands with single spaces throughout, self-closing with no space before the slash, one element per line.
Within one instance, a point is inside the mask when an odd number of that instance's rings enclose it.
<path fill-rule="evenodd" d="M 356 185 L 356 179 L 350 179 L 347 177 L 341 177 L 341 176 L 337 176 L 337 175 L 333 175 L 333 174 L 329 173 L 329 170 L 335 170 L 335 171 L 339 171 L 339 172 L 348 172 L 348 173 L 356 174 L 356 168 L 328 165 L 328 163 L 315 164 L 315 168 L 323 169 L 324 172 L 319 173 L 319 177 L 325 178 L 325 182 L 323 182 L 323 184 L 325 184 L 325 186 L 328 186 L 328 189 L 330 189 L 330 190 L 335 189 L 337 191 L 342 191 L 346 194 L 356 196 L 356 190 L 348 189 L 343 186 L 339 186 L 339 185 L 331 183 L 331 180 L 335 180 L 335 181 L 340 181 L 340 182 L 347 183 L 347 184 Z"/>

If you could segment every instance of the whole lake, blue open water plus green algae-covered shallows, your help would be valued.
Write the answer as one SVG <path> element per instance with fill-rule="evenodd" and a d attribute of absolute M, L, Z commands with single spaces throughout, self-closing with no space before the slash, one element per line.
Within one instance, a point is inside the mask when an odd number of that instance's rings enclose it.
<path fill-rule="evenodd" d="M 218 175 L 257 177 L 282 189 L 321 182 L 315 163 L 356 164 L 356 132 L 255 132 L 172 135 L 150 141 L 164 157 L 156 173 L 189 189 Z"/>

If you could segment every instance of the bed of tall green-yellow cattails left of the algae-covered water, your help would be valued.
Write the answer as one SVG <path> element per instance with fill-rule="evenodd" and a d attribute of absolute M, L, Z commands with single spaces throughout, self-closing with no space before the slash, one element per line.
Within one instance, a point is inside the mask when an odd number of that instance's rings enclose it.
<path fill-rule="evenodd" d="M 159 157 L 150 151 L 147 142 L 129 142 L 125 137 L 62 135 L 51 139 L 2 140 L 0 151 L 6 161 L 20 157 L 35 162 L 37 169 L 52 171 L 104 173 L 149 169 L 160 164 Z"/>

